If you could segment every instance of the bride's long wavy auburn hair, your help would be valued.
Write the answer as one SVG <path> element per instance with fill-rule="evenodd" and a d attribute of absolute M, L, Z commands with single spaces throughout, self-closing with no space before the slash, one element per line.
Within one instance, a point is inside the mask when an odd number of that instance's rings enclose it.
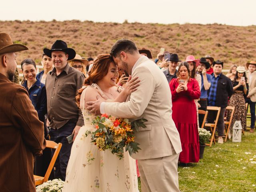
<path fill-rule="evenodd" d="M 108 68 L 110 63 L 114 60 L 110 54 L 100 54 L 94 59 L 94 64 L 92 69 L 88 73 L 88 77 L 84 80 L 83 86 L 91 85 L 97 83 L 99 80 L 102 80 L 104 76 L 108 73 Z M 76 104 L 80 108 L 80 97 L 83 92 L 83 88 L 80 88 L 76 93 Z"/>

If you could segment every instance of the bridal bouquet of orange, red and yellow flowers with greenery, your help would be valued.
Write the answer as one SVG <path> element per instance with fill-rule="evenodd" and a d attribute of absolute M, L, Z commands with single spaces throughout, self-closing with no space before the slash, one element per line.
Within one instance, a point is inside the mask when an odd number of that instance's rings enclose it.
<path fill-rule="evenodd" d="M 134 142 L 134 129 L 138 131 L 138 127 L 145 128 L 144 122 L 147 122 L 147 120 L 142 118 L 129 123 L 128 119 L 118 119 L 114 116 L 102 114 L 102 116 L 97 116 L 92 121 L 96 130 L 94 132 L 88 131 L 86 136 L 91 134 L 91 142 L 99 150 L 110 150 L 112 154 L 122 159 L 124 157 L 124 147 L 130 155 L 140 150 L 139 144 Z"/>

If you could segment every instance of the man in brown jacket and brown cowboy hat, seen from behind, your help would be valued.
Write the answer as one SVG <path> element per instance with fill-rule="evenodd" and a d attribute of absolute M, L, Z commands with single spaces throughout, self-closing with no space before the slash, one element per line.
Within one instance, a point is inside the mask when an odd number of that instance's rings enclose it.
<path fill-rule="evenodd" d="M 0 33 L 0 191 L 35 192 L 34 155 L 46 146 L 44 126 L 28 92 L 12 83 L 17 67 L 15 52 L 28 50 Z"/>

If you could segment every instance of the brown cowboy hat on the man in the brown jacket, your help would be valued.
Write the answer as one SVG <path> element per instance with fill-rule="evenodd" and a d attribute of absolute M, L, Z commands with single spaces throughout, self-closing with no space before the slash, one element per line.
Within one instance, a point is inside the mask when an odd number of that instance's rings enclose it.
<path fill-rule="evenodd" d="M 0 54 L 28 50 L 22 44 L 13 44 L 11 36 L 7 33 L 0 33 Z"/>

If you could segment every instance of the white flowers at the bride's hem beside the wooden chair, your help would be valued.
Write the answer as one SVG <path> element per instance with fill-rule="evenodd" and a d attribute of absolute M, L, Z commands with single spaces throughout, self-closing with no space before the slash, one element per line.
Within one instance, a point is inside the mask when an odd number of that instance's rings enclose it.
<path fill-rule="evenodd" d="M 61 179 L 54 179 L 44 182 L 42 185 L 36 187 L 36 192 L 61 192 L 64 181 Z"/>

